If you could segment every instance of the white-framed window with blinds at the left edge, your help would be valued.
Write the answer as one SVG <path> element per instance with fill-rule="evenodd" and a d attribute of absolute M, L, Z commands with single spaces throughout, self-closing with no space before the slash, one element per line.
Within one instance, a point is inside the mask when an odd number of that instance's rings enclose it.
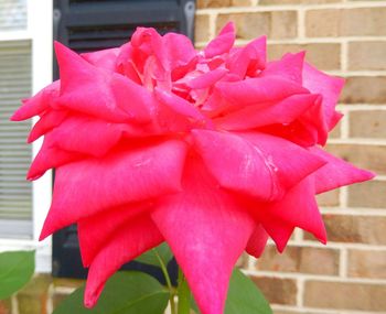
<path fill-rule="evenodd" d="M 51 202 L 50 173 L 25 174 L 39 142 L 31 122 L 12 123 L 20 99 L 52 82 L 52 0 L 0 0 L 0 250 L 36 249 L 36 271 L 51 271 L 51 241 L 37 242 Z"/>

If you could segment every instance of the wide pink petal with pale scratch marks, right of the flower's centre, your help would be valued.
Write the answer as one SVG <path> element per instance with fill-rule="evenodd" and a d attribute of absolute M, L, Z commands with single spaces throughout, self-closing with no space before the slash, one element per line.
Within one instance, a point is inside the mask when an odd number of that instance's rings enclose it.
<path fill-rule="evenodd" d="M 192 134 L 222 186 L 260 201 L 281 198 L 288 188 L 325 163 L 289 141 L 264 133 L 194 130 Z"/>

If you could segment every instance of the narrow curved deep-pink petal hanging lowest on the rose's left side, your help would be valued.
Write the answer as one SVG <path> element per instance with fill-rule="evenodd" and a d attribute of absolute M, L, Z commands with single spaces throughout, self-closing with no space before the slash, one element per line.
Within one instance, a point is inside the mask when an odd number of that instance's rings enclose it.
<path fill-rule="evenodd" d="M 160 231 L 149 216 L 141 216 L 117 229 L 111 239 L 94 259 L 88 271 L 85 299 L 86 307 L 93 307 L 108 278 L 130 260 L 163 241 Z"/>

